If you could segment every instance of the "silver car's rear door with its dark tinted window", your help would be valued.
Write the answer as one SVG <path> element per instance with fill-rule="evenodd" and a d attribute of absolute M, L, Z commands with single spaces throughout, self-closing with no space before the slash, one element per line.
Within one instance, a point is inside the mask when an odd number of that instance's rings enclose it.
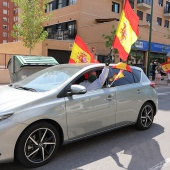
<path fill-rule="evenodd" d="M 113 69 L 112 71 L 112 74 L 114 74 L 115 70 Z M 142 84 L 140 80 L 137 80 L 135 75 L 128 71 L 124 71 L 123 74 L 124 77 L 113 83 L 116 91 L 117 127 L 135 122 L 142 105 Z"/>

